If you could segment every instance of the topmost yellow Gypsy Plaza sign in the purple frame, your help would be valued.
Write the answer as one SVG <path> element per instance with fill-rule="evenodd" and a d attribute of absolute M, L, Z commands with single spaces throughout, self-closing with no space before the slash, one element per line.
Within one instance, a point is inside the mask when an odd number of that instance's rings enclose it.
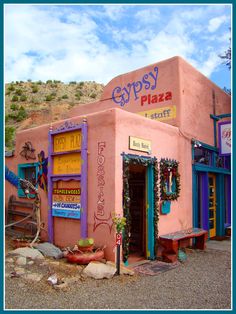
<path fill-rule="evenodd" d="M 81 149 L 82 135 L 81 131 L 71 131 L 54 135 L 53 152 L 66 152 Z"/>

